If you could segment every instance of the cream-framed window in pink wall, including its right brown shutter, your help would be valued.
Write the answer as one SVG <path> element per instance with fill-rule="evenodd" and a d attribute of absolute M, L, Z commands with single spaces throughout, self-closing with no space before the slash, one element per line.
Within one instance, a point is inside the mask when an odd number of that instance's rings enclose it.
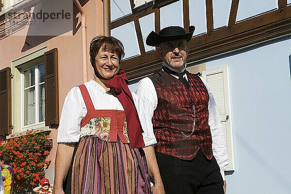
<path fill-rule="evenodd" d="M 12 111 L 7 113 L 12 118 L 11 132 L 56 129 L 59 124 L 58 49 L 49 50 L 45 46 L 19 56 L 12 61 L 11 74 Z"/>

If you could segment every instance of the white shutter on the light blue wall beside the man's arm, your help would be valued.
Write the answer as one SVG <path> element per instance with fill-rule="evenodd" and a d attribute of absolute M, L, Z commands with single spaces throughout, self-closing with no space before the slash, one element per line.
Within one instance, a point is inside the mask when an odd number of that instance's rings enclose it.
<path fill-rule="evenodd" d="M 221 125 L 224 130 L 229 164 L 226 170 L 234 170 L 232 125 L 230 111 L 228 67 L 221 66 L 202 72 L 202 77 L 207 81 L 214 96 L 220 115 Z"/>

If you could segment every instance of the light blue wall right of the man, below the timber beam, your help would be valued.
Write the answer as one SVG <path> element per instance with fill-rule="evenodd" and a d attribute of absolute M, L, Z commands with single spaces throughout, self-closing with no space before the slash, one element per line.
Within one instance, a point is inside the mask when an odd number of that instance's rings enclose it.
<path fill-rule="evenodd" d="M 228 65 L 235 171 L 228 194 L 290 194 L 291 37 L 206 62 Z"/>

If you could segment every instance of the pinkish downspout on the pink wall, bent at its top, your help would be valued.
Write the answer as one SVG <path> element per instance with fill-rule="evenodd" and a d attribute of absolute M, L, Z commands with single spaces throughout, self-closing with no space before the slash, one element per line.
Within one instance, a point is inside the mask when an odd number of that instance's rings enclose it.
<path fill-rule="evenodd" d="M 81 14 L 83 83 L 87 81 L 86 17 L 79 0 L 74 0 Z"/>

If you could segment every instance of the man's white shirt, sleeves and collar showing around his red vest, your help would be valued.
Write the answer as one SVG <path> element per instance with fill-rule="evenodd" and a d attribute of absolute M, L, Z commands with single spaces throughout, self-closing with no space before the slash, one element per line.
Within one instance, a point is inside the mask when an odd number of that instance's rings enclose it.
<path fill-rule="evenodd" d="M 178 76 L 172 75 L 178 79 Z M 187 78 L 187 75 L 184 75 Z M 201 77 L 200 77 L 201 78 Z M 207 82 L 201 78 L 205 86 L 207 87 L 207 90 L 209 91 L 209 104 L 208 104 L 208 110 L 209 110 L 209 121 L 208 124 L 210 125 L 210 131 L 212 136 L 212 151 L 213 155 L 220 167 L 221 175 L 223 179 L 224 177 L 224 171 L 226 170 L 226 166 L 229 162 L 227 151 L 226 151 L 226 145 L 225 145 L 225 139 L 224 139 L 224 133 L 222 126 L 220 124 L 220 117 L 218 113 L 217 106 L 214 101 L 214 97 L 212 93 L 209 90 Z M 144 130 L 143 136 L 145 145 L 149 146 L 152 144 L 156 144 L 157 141 L 155 139 L 154 130 L 153 130 L 153 124 L 152 124 L 152 118 L 154 115 L 154 110 L 157 108 L 158 105 L 158 96 L 156 93 L 155 86 L 153 82 L 149 78 L 144 78 L 141 81 L 138 82 L 137 87 L 135 89 L 135 93 L 139 97 L 139 105 L 138 105 L 138 113 L 140 116 L 140 121 L 142 128 Z"/>

